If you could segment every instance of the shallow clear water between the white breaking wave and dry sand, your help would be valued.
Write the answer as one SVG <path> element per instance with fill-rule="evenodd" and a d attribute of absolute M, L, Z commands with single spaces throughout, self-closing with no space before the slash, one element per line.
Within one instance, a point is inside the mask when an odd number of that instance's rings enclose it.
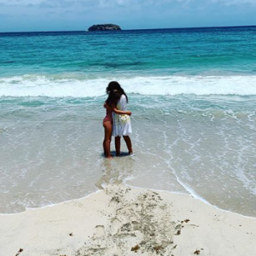
<path fill-rule="evenodd" d="M 1 102 L 1 212 L 126 182 L 255 215 L 255 96 L 132 95 L 135 154 L 113 160 L 102 157 L 103 99 Z"/>

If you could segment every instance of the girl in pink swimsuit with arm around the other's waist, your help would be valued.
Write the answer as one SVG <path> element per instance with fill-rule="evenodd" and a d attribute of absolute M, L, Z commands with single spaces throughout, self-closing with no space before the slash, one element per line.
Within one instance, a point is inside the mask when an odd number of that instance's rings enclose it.
<path fill-rule="evenodd" d="M 107 158 L 112 158 L 110 154 L 110 143 L 112 137 L 112 126 L 113 117 L 112 112 L 117 114 L 128 114 L 131 115 L 131 111 L 121 111 L 116 108 L 116 103 L 119 101 L 122 94 L 118 90 L 113 90 L 108 93 L 108 99 L 104 103 L 104 108 L 106 108 L 106 117 L 103 119 L 103 127 L 105 131 L 105 137 L 103 141 L 103 150 Z"/>

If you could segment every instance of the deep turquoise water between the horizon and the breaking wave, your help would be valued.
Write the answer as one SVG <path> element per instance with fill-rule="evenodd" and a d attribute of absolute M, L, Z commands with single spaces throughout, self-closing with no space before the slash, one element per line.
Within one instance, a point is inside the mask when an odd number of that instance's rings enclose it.
<path fill-rule="evenodd" d="M 7 33 L 1 77 L 83 73 L 255 73 L 256 27 Z"/>

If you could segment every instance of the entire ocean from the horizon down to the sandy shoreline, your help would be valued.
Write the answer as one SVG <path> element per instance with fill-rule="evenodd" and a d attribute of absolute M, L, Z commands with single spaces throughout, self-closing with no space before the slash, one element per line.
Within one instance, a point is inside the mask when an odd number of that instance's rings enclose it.
<path fill-rule="evenodd" d="M 112 80 L 134 154 L 108 160 Z M 0 213 L 127 183 L 256 217 L 255 106 L 256 26 L 0 33 Z"/>

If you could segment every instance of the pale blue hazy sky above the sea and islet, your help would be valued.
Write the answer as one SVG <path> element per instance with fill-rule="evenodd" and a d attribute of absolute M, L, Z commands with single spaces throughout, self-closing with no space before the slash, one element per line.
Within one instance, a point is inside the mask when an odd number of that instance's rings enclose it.
<path fill-rule="evenodd" d="M 0 0 L 0 32 L 256 25 L 256 0 Z"/>

